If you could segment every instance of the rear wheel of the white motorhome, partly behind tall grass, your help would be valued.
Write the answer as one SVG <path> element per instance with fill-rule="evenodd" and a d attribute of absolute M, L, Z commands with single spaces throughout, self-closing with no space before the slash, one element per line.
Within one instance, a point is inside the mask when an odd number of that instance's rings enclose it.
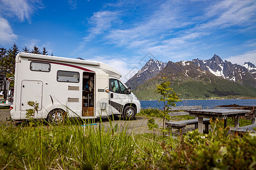
<path fill-rule="evenodd" d="M 60 124 L 65 120 L 65 112 L 62 109 L 54 109 L 47 117 L 49 123 Z"/>

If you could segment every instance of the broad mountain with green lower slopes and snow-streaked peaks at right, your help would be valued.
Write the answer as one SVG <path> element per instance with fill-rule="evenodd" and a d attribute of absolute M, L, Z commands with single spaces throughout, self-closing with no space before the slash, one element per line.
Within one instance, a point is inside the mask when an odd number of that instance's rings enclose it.
<path fill-rule="evenodd" d="M 232 68 L 228 71 L 226 67 Z M 171 87 L 180 94 L 181 99 L 224 96 L 256 97 L 256 79 L 249 69 L 240 65 L 232 65 L 227 61 L 223 62 L 216 55 L 208 61 L 199 59 L 176 63 L 169 61 L 158 74 L 139 84 L 133 90 L 134 94 L 139 99 L 158 99 L 159 96 L 155 93 L 156 84 L 163 81 L 163 76 L 171 81 Z"/>

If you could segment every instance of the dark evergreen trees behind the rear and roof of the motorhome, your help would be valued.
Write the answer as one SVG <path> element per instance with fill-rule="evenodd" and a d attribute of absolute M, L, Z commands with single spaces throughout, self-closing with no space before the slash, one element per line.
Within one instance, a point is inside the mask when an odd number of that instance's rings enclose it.
<path fill-rule="evenodd" d="M 34 54 L 43 54 L 48 56 L 48 52 L 46 48 L 43 48 L 43 51 L 41 52 L 38 46 L 34 45 L 33 48 L 30 50 L 27 48 L 27 46 L 24 46 L 23 48 L 19 48 L 16 43 L 9 48 L 4 48 L 3 46 L 0 48 L 0 69 L 1 74 L 10 74 L 14 75 L 15 73 L 15 58 L 16 55 L 19 52 L 25 52 L 25 53 L 34 53 Z"/>

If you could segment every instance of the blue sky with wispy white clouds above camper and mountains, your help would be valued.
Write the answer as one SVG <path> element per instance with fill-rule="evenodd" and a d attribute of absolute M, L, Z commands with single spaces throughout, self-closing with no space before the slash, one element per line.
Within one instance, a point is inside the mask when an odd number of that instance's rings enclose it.
<path fill-rule="evenodd" d="M 0 46 L 13 42 L 108 63 L 124 82 L 150 58 L 256 64 L 256 1 L 0 0 Z"/>

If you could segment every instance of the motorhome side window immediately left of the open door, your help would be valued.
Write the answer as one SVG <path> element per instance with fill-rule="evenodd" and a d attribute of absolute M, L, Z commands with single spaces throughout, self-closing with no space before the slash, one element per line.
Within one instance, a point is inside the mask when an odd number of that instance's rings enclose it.
<path fill-rule="evenodd" d="M 73 71 L 57 71 L 57 81 L 79 83 L 79 73 Z"/>

